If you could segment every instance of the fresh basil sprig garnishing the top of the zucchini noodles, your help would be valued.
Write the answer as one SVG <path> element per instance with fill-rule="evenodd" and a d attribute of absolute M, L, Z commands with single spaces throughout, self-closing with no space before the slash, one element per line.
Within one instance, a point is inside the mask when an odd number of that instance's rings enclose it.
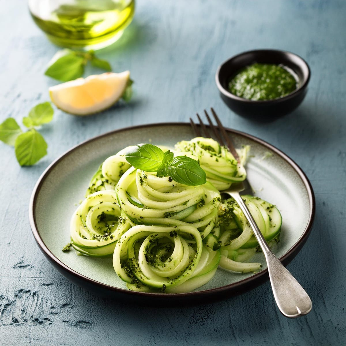
<path fill-rule="evenodd" d="M 125 154 L 129 164 L 146 172 L 156 172 L 158 177 L 170 176 L 185 185 L 202 185 L 207 182 L 206 173 L 196 160 L 176 156 L 169 150 L 165 153 L 152 144 L 138 144 Z"/>

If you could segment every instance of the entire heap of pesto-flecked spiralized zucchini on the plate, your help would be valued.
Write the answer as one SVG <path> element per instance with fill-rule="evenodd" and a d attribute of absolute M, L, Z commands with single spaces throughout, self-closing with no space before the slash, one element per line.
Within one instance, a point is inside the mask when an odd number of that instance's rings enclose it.
<path fill-rule="evenodd" d="M 255 272 L 248 262 L 258 243 L 243 212 L 220 190 L 246 178 L 249 147 L 240 163 L 210 138 L 176 144 L 174 155 L 199 161 L 207 183 L 188 186 L 158 177 L 127 161 L 127 149 L 107 158 L 93 176 L 87 197 L 71 220 L 71 244 L 81 254 L 113 256 L 113 267 L 130 290 L 181 293 L 210 281 L 218 267 Z M 243 196 L 268 242 L 279 239 L 281 215 L 258 197 Z"/>

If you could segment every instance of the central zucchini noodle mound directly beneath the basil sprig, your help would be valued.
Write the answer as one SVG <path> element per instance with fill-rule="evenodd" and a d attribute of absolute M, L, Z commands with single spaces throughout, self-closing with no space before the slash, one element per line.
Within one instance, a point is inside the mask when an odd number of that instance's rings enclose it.
<path fill-rule="evenodd" d="M 133 225 L 181 225 L 180 220 L 198 228 L 202 238 L 213 229 L 221 200 L 210 183 L 186 186 L 134 167 L 121 177 L 116 192 Z"/>

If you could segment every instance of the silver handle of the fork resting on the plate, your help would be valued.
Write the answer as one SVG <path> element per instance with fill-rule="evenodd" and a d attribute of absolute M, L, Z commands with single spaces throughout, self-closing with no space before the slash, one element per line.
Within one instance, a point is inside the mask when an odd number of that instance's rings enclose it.
<path fill-rule="evenodd" d="M 309 295 L 304 291 L 299 282 L 294 279 L 292 274 L 275 257 L 240 194 L 233 191 L 227 193 L 235 199 L 240 209 L 242 209 L 253 230 L 258 244 L 261 246 L 267 262 L 274 299 L 279 310 L 283 315 L 291 318 L 305 315 L 310 312 L 312 302 Z"/>

